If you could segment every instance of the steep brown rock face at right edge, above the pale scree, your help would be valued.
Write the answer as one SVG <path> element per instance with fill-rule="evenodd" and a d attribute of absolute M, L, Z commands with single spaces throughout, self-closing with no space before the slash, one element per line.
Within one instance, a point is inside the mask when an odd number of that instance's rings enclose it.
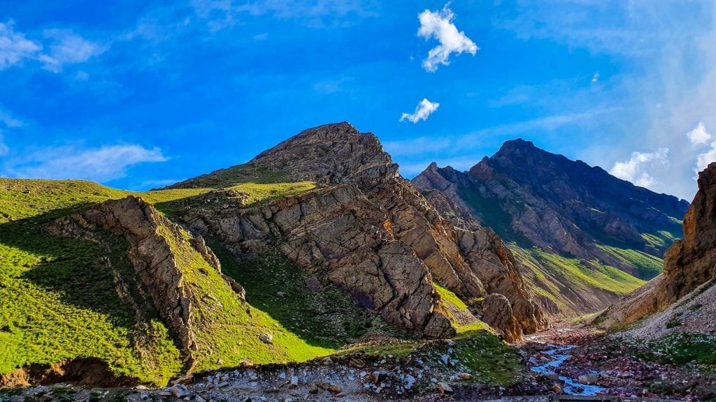
<path fill-rule="evenodd" d="M 595 323 L 606 328 L 620 327 L 661 312 L 677 301 L 688 299 L 691 303 L 692 299 L 703 299 L 713 293 L 712 285 L 716 277 L 716 163 L 700 172 L 698 183 L 699 191 L 684 217 L 684 238 L 674 242 L 667 251 L 663 275 L 611 305 L 594 320 Z M 713 310 L 712 304 L 710 302 L 709 306 L 702 300 L 699 307 L 690 310 L 690 313 L 700 308 L 703 308 L 700 313 Z M 658 315 L 676 316 L 677 313 L 671 308 Z M 678 315 L 686 318 L 691 314 L 682 312 Z M 711 313 L 707 320 L 713 321 L 714 318 Z M 659 316 L 650 320 L 663 321 Z M 702 324 L 704 327 L 707 322 Z"/>

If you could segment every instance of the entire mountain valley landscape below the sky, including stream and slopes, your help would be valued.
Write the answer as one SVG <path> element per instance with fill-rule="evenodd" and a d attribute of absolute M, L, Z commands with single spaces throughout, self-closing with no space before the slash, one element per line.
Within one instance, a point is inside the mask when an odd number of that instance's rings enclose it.
<path fill-rule="evenodd" d="M 707 401 L 715 177 L 516 140 L 409 181 L 337 123 L 146 192 L 0 178 L 0 400 Z"/>

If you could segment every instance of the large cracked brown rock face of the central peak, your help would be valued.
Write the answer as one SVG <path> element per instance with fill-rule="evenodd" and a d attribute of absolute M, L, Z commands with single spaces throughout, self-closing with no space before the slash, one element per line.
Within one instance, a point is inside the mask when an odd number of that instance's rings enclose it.
<path fill-rule="evenodd" d="M 522 330 L 546 325 L 511 256 L 504 247 L 499 250 L 501 242 L 496 246 L 496 236 L 488 240 L 455 230 L 400 177 L 373 134 L 347 123 L 327 124 L 301 132 L 250 163 L 323 187 L 262 207 L 191 208 L 183 220 L 234 253 L 266 253 L 278 246 L 306 270 L 328 268 L 326 278 L 356 303 L 416 333 L 437 337 L 453 332 L 432 280 L 458 295 L 500 290 L 513 304 L 531 306 L 518 310 L 523 316 L 516 320 L 524 328 L 506 328 L 515 338 Z M 178 187 L 193 185 L 190 180 Z"/>

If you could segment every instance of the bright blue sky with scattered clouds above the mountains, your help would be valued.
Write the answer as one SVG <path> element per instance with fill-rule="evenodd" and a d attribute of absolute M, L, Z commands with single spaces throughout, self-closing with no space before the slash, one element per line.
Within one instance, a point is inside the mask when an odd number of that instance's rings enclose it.
<path fill-rule="evenodd" d="M 0 175 L 142 190 L 348 121 L 406 177 L 523 137 L 690 200 L 715 22 L 713 0 L 0 0 Z"/>

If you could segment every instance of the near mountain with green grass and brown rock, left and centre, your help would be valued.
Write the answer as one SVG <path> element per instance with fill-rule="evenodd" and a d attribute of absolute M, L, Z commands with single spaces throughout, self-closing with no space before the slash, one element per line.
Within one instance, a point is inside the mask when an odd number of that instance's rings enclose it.
<path fill-rule="evenodd" d="M 440 217 L 347 123 L 149 192 L 0 179 L 0 212 L 0 387 L 165 384 L 456 333 L 489 356 L 493 334 L 547 325 L 500 238 Z"/>

